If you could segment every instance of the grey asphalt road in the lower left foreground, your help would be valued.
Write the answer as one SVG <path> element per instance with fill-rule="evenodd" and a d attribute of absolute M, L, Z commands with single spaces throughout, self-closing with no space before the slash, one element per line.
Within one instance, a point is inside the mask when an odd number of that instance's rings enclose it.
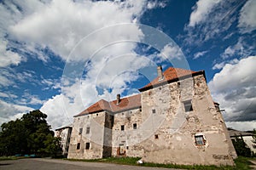
<path fill-rule="evenodd" d="M 30 158 L 13 161 L 0 161 L 1 170 L 172 170 L 160 167 L 137 167 L 110 163 Z"/>

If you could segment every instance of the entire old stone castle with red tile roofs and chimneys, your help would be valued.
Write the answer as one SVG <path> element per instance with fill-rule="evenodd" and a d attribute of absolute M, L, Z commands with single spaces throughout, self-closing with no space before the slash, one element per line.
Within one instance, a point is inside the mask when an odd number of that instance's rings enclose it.
<path fill-rule="evenodd" d="M 67 158 L 137 156 L 155 163 L 234 165 L 236 151 L 204 71 L 168 68 L 140 94 L 74 116 Z"/>

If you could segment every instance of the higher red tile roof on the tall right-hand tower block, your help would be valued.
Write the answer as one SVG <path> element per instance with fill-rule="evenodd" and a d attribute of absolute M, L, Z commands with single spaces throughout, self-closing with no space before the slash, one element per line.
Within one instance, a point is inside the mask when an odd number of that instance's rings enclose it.
<path fill-rule="evenodd" d="M 158 87 L 160 85 L 166 84 L 168 82 L 175 82 L 179 79 L 185 77 L 192 77 L 194 75 L 204 74 L 204 71 L 189 71 L 179 68 L 169 67 L 166 71 L 163 72 L 163 79 L 160 81 L 160 77 L 156 77 L 152 82 L 149 82 L 143 88 L 140 88 L 139 91 L 143 92 L 147 89 Z"/>

